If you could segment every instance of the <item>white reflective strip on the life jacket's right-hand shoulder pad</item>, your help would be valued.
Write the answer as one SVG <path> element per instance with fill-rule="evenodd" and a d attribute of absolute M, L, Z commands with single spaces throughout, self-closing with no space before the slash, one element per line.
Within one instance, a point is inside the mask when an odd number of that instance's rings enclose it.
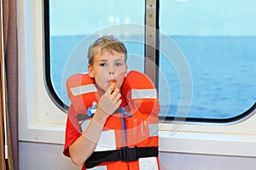
<path fill-rule="evenodd" d="M 131 99 L 156 99 L 157 91 L 152 89 L 131 89 Z"/>

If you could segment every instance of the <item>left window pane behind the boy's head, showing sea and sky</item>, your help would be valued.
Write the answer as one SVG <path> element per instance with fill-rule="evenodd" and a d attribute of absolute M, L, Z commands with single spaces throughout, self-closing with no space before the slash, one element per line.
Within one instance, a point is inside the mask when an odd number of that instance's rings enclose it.
<path fill-rule="evenodd" d="M 67 77 L 86 71 L 87 49 L 97 37 L 113 35 L 128 50 L 128 69 L 144 71 L 143 30 L 119 29 L 123 24 L 144 25 L 145 2 L 131 0 L 49 1 L 50 81 L 55 94 L 69 105 Z M 113 26 L 113 27 L 112 27 Z M 47 31 L 46 31 L 47 32 Z M 72 63 L 72 64 L 71 64 Z"/>

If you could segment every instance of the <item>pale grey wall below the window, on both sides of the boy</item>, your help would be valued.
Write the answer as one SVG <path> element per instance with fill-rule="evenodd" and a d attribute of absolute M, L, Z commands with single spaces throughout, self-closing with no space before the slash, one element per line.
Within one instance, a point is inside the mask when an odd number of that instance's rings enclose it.
<path fill-rule="evenodd" d="M 77 170 L 62 144 L 20 142 L 20 170 Z M 161 170 L 253 170 L 256 158 L 160 152 Z"/>

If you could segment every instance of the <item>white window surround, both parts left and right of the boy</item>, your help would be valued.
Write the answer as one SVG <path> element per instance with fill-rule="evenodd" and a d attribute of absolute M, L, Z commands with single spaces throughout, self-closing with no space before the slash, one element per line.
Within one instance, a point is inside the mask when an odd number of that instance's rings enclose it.
<path fill-rule="evenodd" d="M 67 115 L 49 97 L 44 82 L 43 0 L 18 1 L 17 17 L 19 140 L 64 144 Z M 256 156 L 255 114 L 253 110 L 230 123 L 160 122 L 160 151 Z"/>

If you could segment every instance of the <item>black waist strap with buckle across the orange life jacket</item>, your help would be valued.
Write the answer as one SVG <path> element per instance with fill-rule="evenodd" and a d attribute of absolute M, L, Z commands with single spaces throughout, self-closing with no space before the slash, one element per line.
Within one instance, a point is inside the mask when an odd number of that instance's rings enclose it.
<path fill-rule="evenodd" d="M 158 147 L 122 147 L 120 150 L 96 151 L 85 161 L 85 167 L 96 167 L 106 161 L 137 161 L 141 157 L 157 157 Z"/>

